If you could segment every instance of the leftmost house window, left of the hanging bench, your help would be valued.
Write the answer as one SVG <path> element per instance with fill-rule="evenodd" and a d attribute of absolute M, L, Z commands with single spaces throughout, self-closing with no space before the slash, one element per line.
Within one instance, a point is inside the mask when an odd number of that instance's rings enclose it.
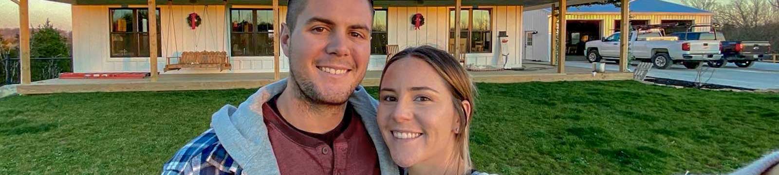
<path fill-rule="evenodd" d="M 149 57 L 149 10 L 111 8 L 111 57 Z M 157 55 L 162 55 L 160 9 L 157 9 Z"/>

